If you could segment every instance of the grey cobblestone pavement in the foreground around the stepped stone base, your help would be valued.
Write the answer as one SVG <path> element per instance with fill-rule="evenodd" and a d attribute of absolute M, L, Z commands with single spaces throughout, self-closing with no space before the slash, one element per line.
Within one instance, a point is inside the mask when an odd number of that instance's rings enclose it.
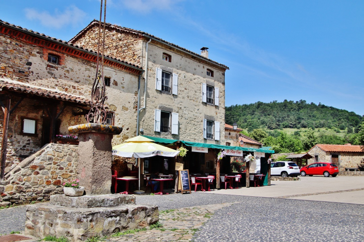
<path fill-rule="evenodd" d="M 364 205 L 212 193 L 136 198 L 159 206 L 164 228 L 107 241 L 364 241 Z M 24 213 L 0 210 L 0 234 L 23 231 Z"/>

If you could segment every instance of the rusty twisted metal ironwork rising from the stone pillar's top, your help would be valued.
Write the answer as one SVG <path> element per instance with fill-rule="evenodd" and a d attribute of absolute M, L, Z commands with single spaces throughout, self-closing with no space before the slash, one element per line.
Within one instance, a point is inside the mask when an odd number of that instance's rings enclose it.
<path fill-rule="evenodd" d="M 105 80 L 104 80 L 104 50 L 105 50 L 105 23 L 106 23 L 106 0 L 104 6 L 104 28 L 102 39 L 102 53 L 100 60 L 100 43 L 101 43 L 101 19 L 102 19 L 103 0 L 101 0 L 100 7 L 100 21 L 99 21 L 99 37 L 97 43 L 97 63 L 96 63 L 96 76 L 91 90 L 91 109 L 85 118 L 87 122 L 106 124 L 107 115 L 109 111 L 105 109 Z"/>

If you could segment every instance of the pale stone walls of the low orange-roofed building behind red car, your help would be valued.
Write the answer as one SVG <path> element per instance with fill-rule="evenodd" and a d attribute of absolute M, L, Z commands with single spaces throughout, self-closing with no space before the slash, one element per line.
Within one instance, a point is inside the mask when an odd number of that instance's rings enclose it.
<path fill-rule="evenodd" d="M 312 156 L 318 156 L 318 162 L 332 163 L 332 155 L 339 156 L 339 170 L 345 171 L 345 168 L 358 167 L 364 160 L 364 152 L 326 152 L 320 147 L 315 146 L 309 152 Z M 315 163 L 315 158 L 309 159 L 308 164 Z"/>

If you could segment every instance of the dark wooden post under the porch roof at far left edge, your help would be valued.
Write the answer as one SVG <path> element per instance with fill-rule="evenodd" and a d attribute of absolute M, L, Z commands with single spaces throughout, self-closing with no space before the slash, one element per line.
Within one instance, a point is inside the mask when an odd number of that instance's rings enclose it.
<path fill-rule="evenodd" d="M 9 116 L 10 116 L 10 97 L 5 99 L 4 104 L 4 121 L 2 124 L 2 141 L 1 141 L 1 169 L 0 169 L 0 180 L 4 180 L 5 175 L 5 162 L 6 162 L 6 149 L 7 149 L 7 131 L 9 126 Z"/>

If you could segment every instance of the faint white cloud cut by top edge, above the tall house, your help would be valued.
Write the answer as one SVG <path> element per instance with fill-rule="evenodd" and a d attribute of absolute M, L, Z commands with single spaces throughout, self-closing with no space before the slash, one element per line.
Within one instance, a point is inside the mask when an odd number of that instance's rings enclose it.
<path fill-rule="evenodd" d="M 153 10 L 173 9 L 177 3 L 182 0 L 120 0 L 120 2 L 128 9 L 149 13 Z"/>

